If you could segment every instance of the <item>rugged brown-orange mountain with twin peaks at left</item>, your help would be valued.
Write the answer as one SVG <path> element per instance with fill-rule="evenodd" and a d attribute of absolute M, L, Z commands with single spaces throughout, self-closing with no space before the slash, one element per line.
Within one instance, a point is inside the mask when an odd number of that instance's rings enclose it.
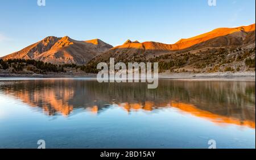
<path fill-rule="evenodd" d="M 86 64 L 86 62 L 110 48 L 113 48 L 113 46 L 99 39 L 77 41 L 68 36 L 49 36 L 2 58 L 4 60 L 33 59 L 51 62 L 52 64 Z"/>

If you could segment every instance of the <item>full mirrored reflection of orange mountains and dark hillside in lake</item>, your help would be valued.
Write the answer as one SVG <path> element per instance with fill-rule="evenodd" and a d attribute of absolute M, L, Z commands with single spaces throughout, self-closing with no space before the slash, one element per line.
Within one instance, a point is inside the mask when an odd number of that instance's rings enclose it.
<path fill-rule="evenodd" d="M 255 128 L 255 82 L 161 80 L 156 90 L 145 83 L 98 83 L 81 79 L 9 81 L 0 91 L 48 115 L 68 116 L 76 108 L 103 112 L 110 104 L 130 111 L 175 107 L 214 123 Z"/>

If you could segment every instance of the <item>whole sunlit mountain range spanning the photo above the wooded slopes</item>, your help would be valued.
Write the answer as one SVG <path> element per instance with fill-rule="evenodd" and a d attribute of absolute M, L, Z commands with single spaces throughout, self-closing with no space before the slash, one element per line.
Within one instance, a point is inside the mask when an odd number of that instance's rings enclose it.
<path fill-rule="evenodd" d="M 22 58 L 34 59 L 52 64 L 88 64 L 88 62 L 106 61 L 109 57 L 118 60 L 134 60 L 134 56 L 146 60 L 167 53 L 220 47 L 255 47 L 255 24 L 235 28 L 217 28 L 188 39 L 181 39 L 175 44 L 154 41 L 127 40 L 123 45 L 113 47 L 100 39 L 78 41 L 68 36 L 49 36 L 18 52 L 2 57 L 3 60 Z"/>

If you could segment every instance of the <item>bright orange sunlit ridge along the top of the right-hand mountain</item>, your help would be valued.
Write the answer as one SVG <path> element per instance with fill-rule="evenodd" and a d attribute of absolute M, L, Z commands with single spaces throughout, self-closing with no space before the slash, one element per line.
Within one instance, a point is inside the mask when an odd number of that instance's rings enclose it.
<path fill-rule="evenodd" d="M 119 45 L 117 47 L 112 48 L 111 50 L 117 50 L 117 52 L 122 52 L 125 49 L 137 49 L 137 50 L 181 50 L 185 48 L 192 47 L 193 45 L 201 44 L 209 40 L 219 39 L 218 44 L 214 44 L 217 46 L 225 46 L 225 45 L 236 45 L 241 44 L 245 39 L 246 35 L 250 32 L 255 31 L 255 24 L 251 24 L 250 26 L 241 26 L 236 28 L 217 28 L 216 30 L 204 33 L 199 36 L 191 37 L 189 39 L 181 39 L 177 41 L 175 44 L 163 44 L 157 43 L 154 41 L 147 41 L 143 43 L 139 43 L 138 41 L 130 41 L 127 40 L 123 45 Z M 220 40 L 223 37 L 229 43 L 225 43 Z M 234 40 L 232 40 L 232 38 Z M 208 43 L 209 44 L 209 43 Z M 214 46 L 213 46 L 214 47 Z"/>

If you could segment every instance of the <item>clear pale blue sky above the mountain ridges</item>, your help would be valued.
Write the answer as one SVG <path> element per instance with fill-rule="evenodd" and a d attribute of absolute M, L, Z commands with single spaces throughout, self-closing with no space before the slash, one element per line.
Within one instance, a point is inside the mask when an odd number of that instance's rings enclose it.
<path fill-rule="evenodd" d="M 0 56 L 46 36 L 127 39 L 172 44 L 219 27 L 255 23 L 255 0 L 5 0 L 0 2 Z"/>

